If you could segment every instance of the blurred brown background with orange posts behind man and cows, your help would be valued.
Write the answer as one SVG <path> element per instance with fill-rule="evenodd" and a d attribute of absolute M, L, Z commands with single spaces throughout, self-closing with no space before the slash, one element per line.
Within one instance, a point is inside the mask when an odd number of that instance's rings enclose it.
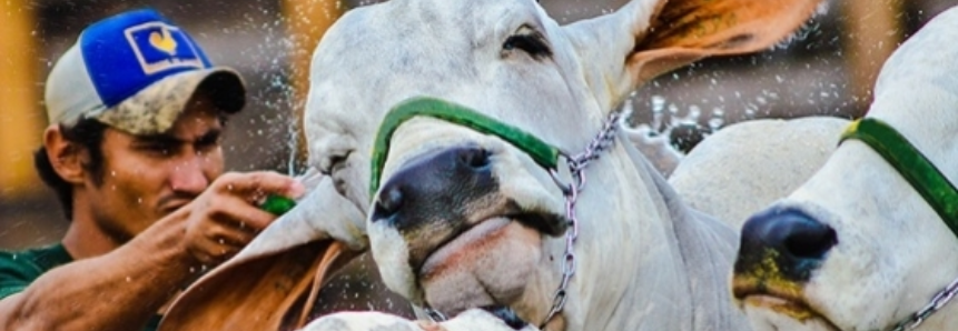
<path fill-rule="evenodd" d="M 452 0 L 450 0 L 452 1 Z M 766 1 L 766 0 L 755 0 Z M 66 229 L 32 152 L 47 126 L 42 103 L 52 64 L 89 23 L 152 7 L 184 27 L 218 64 L 247 80 L 247 109 L 226 138 L 229 170 L 302 169 L 298 119 L 309 54 L 342 12 L 375 1 L 4 0 L 0 1 L 0 249 L 56 242 Z M 542 0 L 560 22 L 626 0 Z M 831 0 L 793 40 L 760 54 L 710 59 L 635 92 L 633 123 L 690 149 L 723 126 L 757 118 L 860 117 L 886 57 L 958 0 Z M 297 147 L 299 146 L 299 147 Z"/>

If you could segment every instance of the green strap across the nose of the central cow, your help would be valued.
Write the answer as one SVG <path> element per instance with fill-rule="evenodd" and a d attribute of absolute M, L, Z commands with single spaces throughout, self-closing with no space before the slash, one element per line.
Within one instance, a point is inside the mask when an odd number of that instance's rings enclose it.
<path fill-rule="evenodd" d="M 371 199 L 376 194 L 376 190 L 379 189 L 379 180 L 383 174 L 383 167 L 386 164 L 386 156 L 389 152 L 389 140 L 393 133 L 396 132 L 396 129 L 401 124 L 417 116 L 441 119 L 467 127 L 484 134 L 496 136 L 527 153 L 539 165 L 545 169 L 555 169 L 559 164 L 560 150 L 529 132 L 460 104 L 427 97 L 413 98 L 389 110 L 383 123 L 379 124 L 379 131 L 373 146 L 373 169 L 369 181 Z"/>

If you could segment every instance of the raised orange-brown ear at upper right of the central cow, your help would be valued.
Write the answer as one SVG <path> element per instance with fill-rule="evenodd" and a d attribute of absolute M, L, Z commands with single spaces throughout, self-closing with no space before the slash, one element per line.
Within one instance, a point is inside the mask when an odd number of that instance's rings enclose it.
<path fill-rule="evenodd" d="M 798 30 L 820 0 L 668 0 L 626 61 L 636 87 L 711 56 L 771 48 Z"/>

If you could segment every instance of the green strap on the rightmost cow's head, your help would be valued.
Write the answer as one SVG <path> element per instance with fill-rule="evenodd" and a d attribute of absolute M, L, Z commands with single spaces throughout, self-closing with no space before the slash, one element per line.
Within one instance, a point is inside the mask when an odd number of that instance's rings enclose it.
<path fill-rule="evenodd" d="M 861 140 L 881 154 L 958 235 L 958 191 L 901 133 L 879 120 L 866 118 L 845 130 L 841 141 L 847 139 Z"/>

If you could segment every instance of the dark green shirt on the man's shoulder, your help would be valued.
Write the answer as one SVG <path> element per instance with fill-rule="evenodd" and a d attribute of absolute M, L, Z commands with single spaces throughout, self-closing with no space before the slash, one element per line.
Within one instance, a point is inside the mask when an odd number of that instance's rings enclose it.
<path fill-rule="evenodd" d="M 0 300 L 22 292 L 45 272 L 72 261 L 73 257 L 61 243 L 23 251 L 0 251 Z M 160 315 L 155 315 L 144 330 L 156 330 L 159 321 Z"/>

